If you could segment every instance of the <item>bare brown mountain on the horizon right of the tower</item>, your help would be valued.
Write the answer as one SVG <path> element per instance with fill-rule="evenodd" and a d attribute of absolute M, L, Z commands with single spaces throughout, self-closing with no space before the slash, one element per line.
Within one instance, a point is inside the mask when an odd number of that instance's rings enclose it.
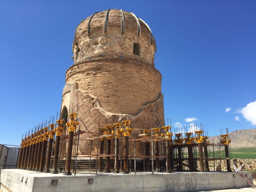
<path fill-rule="evenodd" d="M 256 147 L 256 129 L 236 130 L 229 133 L 231 148 Z M 209 137 L 209 142 L 217 143 L 221 136 Z"/>

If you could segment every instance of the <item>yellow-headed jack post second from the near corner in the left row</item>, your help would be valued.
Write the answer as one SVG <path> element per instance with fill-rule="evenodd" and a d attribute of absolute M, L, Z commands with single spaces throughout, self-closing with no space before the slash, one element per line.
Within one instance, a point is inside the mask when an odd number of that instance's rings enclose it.
<path fill-rule="evenodd" d="M 56 123 L 58 124 L 58 126 L 54 129 L 56 139 L 55 139 L 53 166 L 52 166 L 53 170 L 51 172 L 52 174 L 58 174 L 59 144 L 61 141 L 61 133 L 64 130 L 64 127 L 63 127 L 64 120 L 58 119 L 58 120 L 56 120 Z M 54 134 L 54 133 L 52 132 L 52 134 Z"/>

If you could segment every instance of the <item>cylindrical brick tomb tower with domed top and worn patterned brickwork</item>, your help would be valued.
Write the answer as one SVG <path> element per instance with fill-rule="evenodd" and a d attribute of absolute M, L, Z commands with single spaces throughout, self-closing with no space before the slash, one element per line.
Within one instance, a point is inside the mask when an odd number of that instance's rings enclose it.
<path fill-rule="evenodd" d="M 74 64 L 66 72 L 62 118 L 78 111 L 81 130 L 87 131 L 86 126 L 93 133 L 98 132 L 99 122 L 104 126 L 126 119 L 132 120 L 133 134 L 163 126 L 162 77 L 154 64 L 156 42 L 142 19 L 118 9 L 96 12 L 76 28 L 72 51 Z M 90 153 L 89 143 L 79 142 L 82 154 Z"/>

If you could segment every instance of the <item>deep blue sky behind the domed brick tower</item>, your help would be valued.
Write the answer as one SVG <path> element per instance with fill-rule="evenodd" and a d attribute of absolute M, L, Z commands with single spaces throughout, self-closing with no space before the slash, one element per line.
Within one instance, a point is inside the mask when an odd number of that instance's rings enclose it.
<path fill-rule="evenodd" d="M 151 28 L 173 127 L 203 123 L 209 136 L 256 128 L 256 1 L 2 0 L 1 144 L 19 145 L 60 111 L 75 28 L 109 8 L 133 12 Z"/>

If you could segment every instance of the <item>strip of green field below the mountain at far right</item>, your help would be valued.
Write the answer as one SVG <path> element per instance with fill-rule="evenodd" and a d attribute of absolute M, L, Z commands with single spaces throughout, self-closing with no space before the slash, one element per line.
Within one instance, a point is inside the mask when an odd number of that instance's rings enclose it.
<path fill-rule="evenodd" d="M 231 151 L 230 151 L 231 155 Z M 232 148 L 232 158 L 254 158 L 256 159 L 256 148 L 255 147 L 248 147 L 248 148 Z"/>

